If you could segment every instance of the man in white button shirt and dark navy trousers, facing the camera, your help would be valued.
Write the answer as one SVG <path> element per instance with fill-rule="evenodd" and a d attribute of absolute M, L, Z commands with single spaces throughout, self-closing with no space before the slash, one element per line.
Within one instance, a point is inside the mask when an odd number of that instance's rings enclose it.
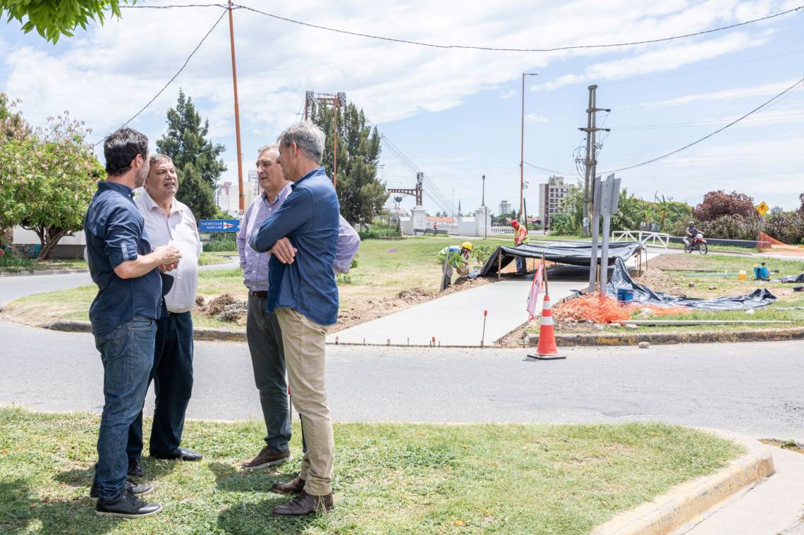
<path fill-rule="evenodd" d="M 197 461 L 201 455 L 179 447 L 184 414 L 193 387 L 193 321 L 190 314 L 198 291 L 201 239 L 191 210 L 176 200 L 178 177 L 173 161 L 164 154 L 150 157 L 145 191 L 134 199 L 145 219 L 146 233 L 154 247 L 173 245 L 182 260 L 165 275 L 173 286 L 165 296 L 167 316 L 157 320 L 154 367 L 156 406 L 149 451 L 157 459 Z M 129 427 L 129 476 L 142 476 L 142 412 Z"/>

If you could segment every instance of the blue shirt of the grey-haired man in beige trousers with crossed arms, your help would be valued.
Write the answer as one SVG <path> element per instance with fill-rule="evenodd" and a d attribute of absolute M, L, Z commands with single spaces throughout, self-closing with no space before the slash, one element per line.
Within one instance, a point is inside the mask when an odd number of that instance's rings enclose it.
<path fill-rule="evenodd" d="M 251 240 L 251 247 L 260 252 L 269 251 L 283 237 L 297 249 L 291 264 L 271 256 L 268 311 L 293 308 L 320 325 L 334 325 L 338 321 L 338 286 L 332 271 L 338 241 L 338 195 L 322 167 L 291 187 L 282 207 Z"/>

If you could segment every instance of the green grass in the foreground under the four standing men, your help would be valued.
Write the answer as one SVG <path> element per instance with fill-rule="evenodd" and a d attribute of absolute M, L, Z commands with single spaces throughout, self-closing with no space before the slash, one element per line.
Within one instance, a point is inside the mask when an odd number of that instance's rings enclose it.
<path fill-rule="evenodd" d="M 271 516 L 287 498 L 269 488 L 298 470 L 298 427 L 296 459 L 281 472 L 244 472 L 239 463 L 265 435 L 261 422 L 188 421 L 183 443 L 203 461 L 145 457 L 147 497 L 164 509 L 121 521 L 96 517 L 88 497 L 97 427 L 97 415 L 0 409 L 0 532 L 576 535 L 742 452 L 658 423 L 340 423 L 334 510 L 291 520 Z"/>

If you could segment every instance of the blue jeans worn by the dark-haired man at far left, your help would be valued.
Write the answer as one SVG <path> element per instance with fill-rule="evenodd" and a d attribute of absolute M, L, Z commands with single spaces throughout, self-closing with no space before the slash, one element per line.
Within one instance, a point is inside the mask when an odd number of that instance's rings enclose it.
<path fill-rule="evenodd" d="M 111 501 L 125 490 L 129 468 L 125 453 L 129 427 L 145 402 L 148 377 L 154 366 L 156 322 L 135 317 L 111 333 L 95 337 L 103 361 L 103 414 L 98 432 L 95 482 L 101 500 Z"/>

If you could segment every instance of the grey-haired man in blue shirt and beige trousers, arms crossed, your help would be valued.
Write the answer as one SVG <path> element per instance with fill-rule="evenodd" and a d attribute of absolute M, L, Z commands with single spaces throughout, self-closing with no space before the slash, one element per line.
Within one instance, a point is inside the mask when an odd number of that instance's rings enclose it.
<path fill-rule="evenodd" d="M 324 133 L 299 123 L 279 137 L 279 165 L 292 191 L 252 236 L 269 260 L 268 312 L 276 312 L 293 406 L 301 417 L 307 451 L 301 470 L 278 492 L 298 493 L 272 513 L 307 515 L 332 508 L 334 440 L 324 386 L 326 330 L 338 320 L 338 286 L 332 264 L 340 207 L 332 181 L 320 166 Z"/>

